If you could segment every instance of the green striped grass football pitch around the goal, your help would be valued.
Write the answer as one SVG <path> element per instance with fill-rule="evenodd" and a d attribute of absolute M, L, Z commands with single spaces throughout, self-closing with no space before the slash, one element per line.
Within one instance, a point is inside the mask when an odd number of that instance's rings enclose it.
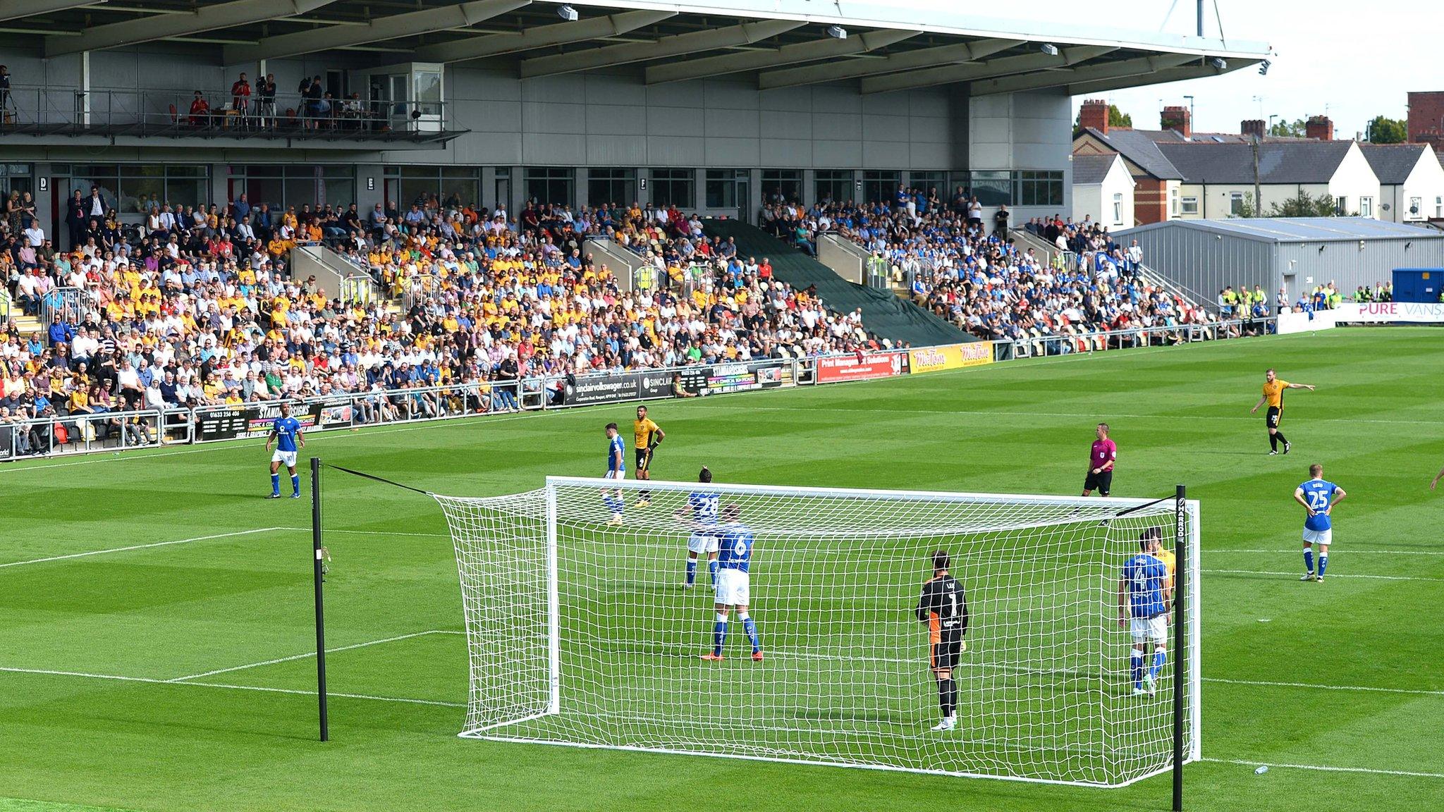
<path fill-rule="evenodd" d="M 1428 490 L 1444 465 L 1441 341 L 1337 329 L 657 402 L 654 475 L 690 480 L 706 464 L 729 483 L 1077 494 L 1106 420 L 1115 496 L 1184 483 L 1201 503 L 1204 761 L 1187 767 L 1186 806 L 1421 809 L 1444 796 L 1444 491 Z M 1287 397 L 1287 457 L 1266 455 L 1262 413 L 1249 413 L 1266 367 L 1318 386 Z M 631 413 L 318 433 L 302 455 L 507 494 L 596 475 L 601 426 Z M 442 513 L 338 472 L 325 481 L 322 744 L 309 501 L 261 498 L 263 442 L 0 468 L 0 809 L 1168 805 L 1167 776 L 1083 789 L 458 738 L 466 647 Z M 1298 581 L 1292 491 L 1310 462 L 1350 494 L 1324 584 Z M 762 581 L 754 594 L 765 640 Z M 696 691 L 697 705 L 716 701 Z"/>

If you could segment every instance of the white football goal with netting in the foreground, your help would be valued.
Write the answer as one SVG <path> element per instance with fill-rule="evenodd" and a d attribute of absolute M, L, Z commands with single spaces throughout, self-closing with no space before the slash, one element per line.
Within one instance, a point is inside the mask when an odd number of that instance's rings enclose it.
<path fill-rule="evenodd" d="M 718 523 L 695 516 L 699 493 Z M 1184 763 L 1200 757 L 1196 501 L 563 477 L 436 500 L 466 624 L 464 737 L 1125 786 L 1174 764 L 1178 672 L 1135 695 L 1119 623 L 1147 536 L 1186 568 L 1184 650 L 1170 630 L 1167 656 L 1186 655 Z M 736 613 L 721 623 L 706 561 L 709 537 L 742 532 L 760 660 Z M 934 550 L 969 613 L 946 731 L 917 611 Z M 719 626 L 723 659 L 700 659 Z"/>

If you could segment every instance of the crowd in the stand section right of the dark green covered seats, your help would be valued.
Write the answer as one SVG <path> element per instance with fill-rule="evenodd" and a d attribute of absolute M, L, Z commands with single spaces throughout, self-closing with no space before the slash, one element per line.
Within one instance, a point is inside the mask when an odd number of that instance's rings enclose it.
<path fill-rule="evenodd" d="M 1136 241 L 1125 247 L 1090 221 L 1034 218 L 1022 227 L 1057 249 L 1045 260 L 1009 237 L 1009 217 L 1006 207 L 989 211 L 963 189 L 944 199 L 937 189 L 907 186 L 882 202 L 771 202 L 762 211 L 765 227 L 804 251 L 820 234 L 856 243 L 914 302 L 979 338 L 1041 341 L 1214 321 L 1145 283 Z M 1041 341 L 1044 351 L 1074 345 Z"/>

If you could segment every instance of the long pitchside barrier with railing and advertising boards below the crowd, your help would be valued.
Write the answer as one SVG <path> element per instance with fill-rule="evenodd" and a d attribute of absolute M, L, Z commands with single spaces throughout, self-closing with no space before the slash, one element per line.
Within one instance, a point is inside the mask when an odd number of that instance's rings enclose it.
<path fill-rule="evenodd" d="M 975 341 L 806 358 L 767 358 L 695 364 L 617 374 L 543 376 L 381 392 L 336 393 L 292 400 L 302 431 L 419 423 L 495 412 L 542 412 L 790 389 L 904 374 L 926 374 L 1037 355 L 1103 353 L 1193 341 L 1217 341 L 1272 332 L 1272 319 L 1207 325 L 1151 327 L 1109 332 L 1037 335 L 1018 341 Z M 684 394 L 683 394 L 684 393 Z M 280 416 L 280 402 L 46 416 L 0 422 L 0 459 L 98 451 L 121 452 L 157 445 L 191 445 L 263 438 Z"/>

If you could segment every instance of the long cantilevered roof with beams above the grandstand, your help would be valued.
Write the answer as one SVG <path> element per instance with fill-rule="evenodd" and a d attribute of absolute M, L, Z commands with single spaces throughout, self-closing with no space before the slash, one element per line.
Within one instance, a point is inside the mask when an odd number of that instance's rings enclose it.
<path fill-rule="evenodd" d="M 38 38 L 46 56 L 192 43 L 218 65 L 237 66 L 361 51 L 387 62 L 503 62 L 521 78 L 632 65 L 648 84 L 739 74 L 760 90 L 848 81 L 862 92 L 890 92 L 962 82 L 973 95 L 1106 92 L 1236 71 L 1268 56 L 1261 43 L 1131 32 L 1126 22 L 989 19 L 962 3 L 953 10 L 812 0 L 570 6 L 575 22 L 559 16 L 562 3 L 533 0 L 6 0 L 0 43 Z"/>

